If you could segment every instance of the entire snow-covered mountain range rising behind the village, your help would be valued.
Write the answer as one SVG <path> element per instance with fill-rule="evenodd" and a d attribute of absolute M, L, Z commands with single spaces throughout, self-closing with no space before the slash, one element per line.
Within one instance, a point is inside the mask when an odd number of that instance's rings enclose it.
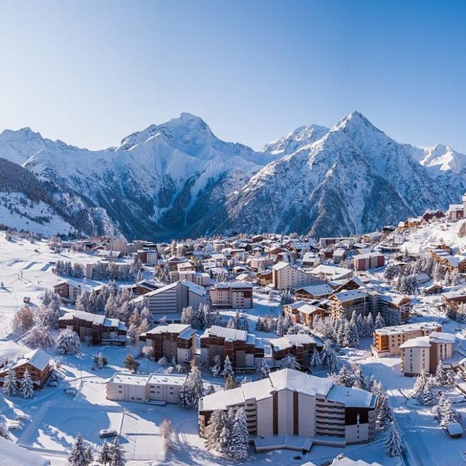
<path fill-rule="evenodd" d="M 466 156 L 397 143 L 359 112 L 331 129 L 299 127 L 262 152 L 226 143 L 183 113 L 101 151 L 5 130 L 0 157 L 53 186 L 53 199 L 40 199 L 50 215 L 79 232 L 128 239 L 372 231 L 446 208 L 466 186 Z M 79 221 L 66 217 L 73 209 Z"/>

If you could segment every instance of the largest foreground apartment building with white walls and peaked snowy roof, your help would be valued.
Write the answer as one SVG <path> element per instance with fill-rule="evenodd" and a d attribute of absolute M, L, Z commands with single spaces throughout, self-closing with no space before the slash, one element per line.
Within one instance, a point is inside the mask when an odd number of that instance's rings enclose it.
<path fill-rule="evenodd" d="M 250 435 L 297 435 L 328 443 L 364 443 L 376 428 L 376 395 L 340 387 L 330 378 L 282 369 L 269 378 L 218 391 L 199 400 L 199 436 L 214 410 L 245 408 Z M 337 437 L 337 439 L 334 439 Z"/>

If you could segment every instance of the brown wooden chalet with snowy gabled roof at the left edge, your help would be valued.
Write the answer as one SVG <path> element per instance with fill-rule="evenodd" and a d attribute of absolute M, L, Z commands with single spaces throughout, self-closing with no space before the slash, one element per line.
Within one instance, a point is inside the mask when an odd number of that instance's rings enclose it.
<path fill-rule="evenodd" d="M 10 367 L 14 371 L 16 380 L 21 380 L 27 370 L 34 384 L 34 389 L 41 389 L 44 386 L 52 370 L 50 356 L 43 349 L 34 349 L 34 351 L 26 353 L 14 363 L 5 361 L 0 366 L 0 386 L 3 386 L 3 379 Z"/>

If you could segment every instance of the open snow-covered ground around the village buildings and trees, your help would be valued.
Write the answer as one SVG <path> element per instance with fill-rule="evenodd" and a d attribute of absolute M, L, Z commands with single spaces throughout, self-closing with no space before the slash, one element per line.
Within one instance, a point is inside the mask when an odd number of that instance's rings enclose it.
<path fill-rule="evenodd" d="M 438 228 L 438 227 L 437 227 Z M 442 231 L 443 230 L 439 230 Z M 419 234 L 423 234 L 419 232 Z M 435 238 L 432 228 L 426 244 Z M 422 236 L 424 238 L 424 236 Z M 447 241 L 447 235 L 444 235 Z M 417 241 L 417 243 L 415 242 Z M 419 238 L 413 238 L 413 244 L 419 247 Z M 61 279 L 52 273 L 51 262 L 56 260 L 71 260 L 71 262 L 88 262 L 87 254 L 64 252 L 56 254 L 49 250 L 47 243 L 29 243 L 19 238 L 12 242 L 5 240 L 0 234 L 0 358 L 21 356 L 29 350 L 21 339 L 16 339 L 11 333 L 10 321 L 14 312 L 23 305 L 23 297 L 31 298 L 32 306 L 40 304 L 40 296 L 45 289 Z M 147 272 L 147 275 L 149 273 Z M 373 284 L 384 286 L 380 271 L 369 273 Z M 266 355 L 269 354 L 269 340 L 275 334 L 255 332 L 254 327 L 258 317 L 266 314 L 278 315 L 280 312 L 280 297 L 269 296 L 266 291 L 256 289 L 254 292 L 254 308 L 246 310 L 249 329 L 256 333 L 260 343 L 264 345 Z M 443 320 L 436 308 L 438 297 L 417 297 L 417 309 L 424 315 L 413 320 Z M 224 310 L 222 315 L 230 316 L 234 310 Z M 445 331 L 458 336 L 457 349 L 466 354 L 465 326 L 446 319 Z M 459 330 L 458 330 L 459 329 Z M 201 333 L 201 331 L 199 331 Z M 404 458 L 388 458 L 384 456 L 383 434 L 378 432 L 376 439 L 369 445 L 352 445 L 345 447 L 344 454 L 349 458 L 363 459 L 369 463 L 378 461 L 384 466 L 397 465 L 461 465 L 464 463 L 462 452 L 466 451 L 466 439 L 449 439 L 443 429 L 439 428 L 432 410 L 419 406 L 409 397 L 410 389 L 415 383 L 414 378 L 405 378 L 400 372 L 400 358 L 373 358 L 369 351 L 370 339 L 361 339 L 357 349 L 345 349 L 341 363 L 358 363 L 363 366 L 367 376 L 373 375 L 382 382 L 390 396 L 395 409 L 395 419 L 402 431 L 404 445 L 407 447 Z M 101 351 L 108 358 L 108 366 L 95 369 L 93 355 Z M 115 428 L 121 432 L 128 465 L 225 465 L 234 464 L 221 458 L 204 447 L 204 441 L 198 436 L 197 412 L 185 410 L 180 406 L 148 406 L 138 403 L 112 402 L 106 399 L 105 383 L 116 371 L 124 371 L 123 361 L 128 352 L 134 352 L 133 347 L 89 347 L 82 346 L 82 352 L 75 356 L 63 356 L 55 349 L 49 350 L 51 357 L 60 361 L 63 380 L 58 387 L 45 387 L 36 391 L 32 400 L 21 397 L 1 397 L 0 413 L 5 420 L 12 421 L 17 415 L 27 415 L 23 430 L 12 432 L 12 437 L 19 445 L 29 450 L 39 452 L 46 458 L 51 458 L 52 466 L 66 464 L 66 451 L 78 432 L 95 448 L 101 444 L 98 432 L 102 428 Z M 463 357 L 458 354 L 458 358 Z M 154 361 L 144 358 L 140 360 L 140 371 L 164 372 Z M 326 376 L 326 371 L 317 371 L 316 375 Z M 251 376 L 248 376 L 251 378 Z M 203 371 L 207 383 L 223 385 L 223 379 L 214 378 L 209 371 Z M 254 378 L 254 377 L 253 377 Z M 65 387 L 76 387 L 77 395 L 64 395 Z M 462 395 L 449 391 L 448 395 L 455 402 L 455 408 L 466 418 L 466 402 Z M 176 447 L 170 458 L 164 458 L 162 441 L 158 432 L 160 421 L 168 417 L 173 421 L 176 432 Z M 294 460 L 296 452 L 275 451 L 267 454 L 254 454 L 249 447 L 249 457 L 243 463 L 254 463 L 266 466 L 301 465 L 306 461 L 317 464 L 330 460 L 339 454 L 339 448 L 314 446 L 312 450 Z M 428 461 L 426 461 L 428 458 Z M 238 463 L 236 463 L 238 464 Z"/>

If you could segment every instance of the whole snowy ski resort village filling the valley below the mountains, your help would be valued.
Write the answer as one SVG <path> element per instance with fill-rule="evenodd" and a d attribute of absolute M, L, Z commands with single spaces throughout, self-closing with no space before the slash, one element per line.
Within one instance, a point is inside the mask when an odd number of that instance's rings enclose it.
<path fill-rule="evenodd" d="M 0 232 L 0 464 L 466 463 L 466 196 L 371 234 Z"/>

